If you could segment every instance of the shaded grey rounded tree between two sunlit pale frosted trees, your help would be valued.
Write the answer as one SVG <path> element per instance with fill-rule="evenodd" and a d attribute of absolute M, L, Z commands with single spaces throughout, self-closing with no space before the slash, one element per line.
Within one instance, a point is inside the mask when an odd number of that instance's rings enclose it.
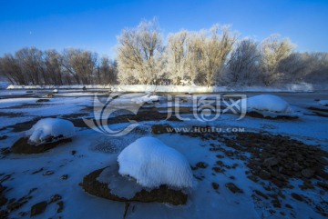
<path fill-rule="evenodd" d="M 259 74 L 260 50 L 257 42 L 241 40 L 232 51 L 225 70 L 231 85 L 253 85 Z"/>

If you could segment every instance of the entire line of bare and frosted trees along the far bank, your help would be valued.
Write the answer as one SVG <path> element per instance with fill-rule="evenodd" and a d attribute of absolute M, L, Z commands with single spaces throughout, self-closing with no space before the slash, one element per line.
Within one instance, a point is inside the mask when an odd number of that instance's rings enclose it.
<path fill-rule="evenodd" d="M 297 53 L 289 39 L 240 39 L 229 26 L 182 30 L 166 41 L 156 20 L 118 36 L 116 61 L 80 49 L 23 48 L 0 58 L 17 85 L 283 85 L 328 83 L 327 53 Z"/>

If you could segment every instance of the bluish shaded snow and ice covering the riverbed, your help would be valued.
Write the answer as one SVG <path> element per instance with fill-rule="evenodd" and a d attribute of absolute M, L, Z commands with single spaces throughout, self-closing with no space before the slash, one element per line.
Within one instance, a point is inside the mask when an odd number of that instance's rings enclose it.
<path fill-rule="evenodd" d="M 8 92 L 12 92 L 11 95 Z M 320 145 L 323 151 L 328 152 L 328 108 L 318 102 L 327 100 L 328 93 L 274 94 L 282 97 L 293 112 L 301 114 L 296 120 L 270 120 L 246 115 L 237 121 L 236 114 L 221 114 L 219 119 L 211 122 L 193 119 L 191 111 L 181 114 L 189 117 L 190 121 L 165 121 L 165 116 L 158 121 L 156 116 L 159 112 L 169 111 L 165 109 L 168 106 L 165 95 L 159 95 L 159 103 L 140 109 L 140 112 L 146 113 L 143 115 L 145 117 L 138 117 L 141 118 L 138 127 L 118 137 L 97 133 L 83 123 L 82 118 L 93 117 L 95 93 L 59 90 L 59 94 L 49 98 L 49 102 L 36 103 L 44 94 L 45 92 L 26 94 L 26 90 L 0 91 L 0 150 L 3 152 L 24 136 L 25 131 L 36 124 L 39 118 L 65 118 L 77 127 L 72 142 L 59 145 L 46 153 L 0 154 L 0 184 L 7 187 L 3 193 L 8 200 L 12 200 L 12 205 L 18 205 L 14 208 L 8 201 L 0 206 L 0 213 L 3 211 L 4 214 L 10 205 L 9 218 L 30 218 L 31 207 L 43 201 L 47 202 L 45 212 L 34 218 L 123 218 L 125 212 L 126 218 L 325 218 L 316 206 L 327 214 L 327 190 L 317 186 L 302 190 L 299 187 L 302 184 L 300 179 L 290 180 L 289 184 L 293 188 L 281 189 L 268 180 L 251 181 L 249 174 L 246 174 L 250 172 L 247 164 L 250 154 L 245 154 L 246 160 L 231 156 L 228 152 L 233 153 L 236 149 L 224 144 L 223 136 L 227 137 L 224 134 L 237 129 L 256 134 L 281 134 L 304 144 Z M 97 95 L 103 100 L 108 97 L 104 92 L 97 91 Z M 126 103 L 141 96 L 144 94 L 125 95 L 125 99 L 117 102 L 118 109 L 124 110 Z M 185 97 L 183 107 L 191 107 L 191 95 Z M 112 129 L 128 125 L 128 120 L 113 118 L 110 121 L 109 126 Z M 153 124 L 170 124 L 176 133 L 152 134 Z M 196 137 L 183 134 L 182 131 L 191 130 L 193 125 L 216 127 L 219 129 L 217 137 L 204 139 L 200 137 L 202 134 Z M 125 203 L 91 196 L 83 191 L 79 183 L 86 174 L 116 164 L 118 154 L 128 144 L 145 136 L 158 138 L 163 144 L 174 148 L 192 166 L 192 174 L 197 183 L 192 187 L 186 205 L 131 203 L 127 210 Z M 251 142 L 255 140 L 250 139 Z M 220 169 L 225 170 L 220 172 Z M 313 184 L 319 181 L 327 184 L 322 179 L 314 179 Z M 242 192 L 238 192 L 233 186 L 231 188 L 231 184 Z M 269 185 L 272 190 L 265 190 L 264 187 Z M 51 202 L 55 194 L 60 195 L 61 199 Z M 302 201 L 292 194 L 302 196 Z M 275 196 L 278 198 L 273 198 Z M 280 204 L 274 205 L 272 202 L 277 199 Z M 61 211 L 58 211 L 58 202 L 63 202 Z"/>

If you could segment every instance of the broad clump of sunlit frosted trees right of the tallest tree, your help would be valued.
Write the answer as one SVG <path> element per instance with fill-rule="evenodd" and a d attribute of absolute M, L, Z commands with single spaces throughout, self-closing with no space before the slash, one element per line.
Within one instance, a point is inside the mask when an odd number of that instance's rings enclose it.
<path fill-rule="evenodd" d="M 196 85 L 216 84 L 236 38 L 228 26 L 219 25 L 169 35 L 166 57 L 170 79 L 174 84 L 181 80 Z"/>

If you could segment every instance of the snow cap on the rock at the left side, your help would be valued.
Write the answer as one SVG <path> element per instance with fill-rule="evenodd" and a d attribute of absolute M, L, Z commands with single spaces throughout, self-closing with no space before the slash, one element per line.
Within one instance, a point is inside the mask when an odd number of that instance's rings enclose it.
<path fill-rule="evenodd" d="M 26 131 L 29 142 L 41 144 L 50 138 L 68 138 L 75 134 L 74 124 L 64 119 L 46 118 L 39 120 Z"/>

